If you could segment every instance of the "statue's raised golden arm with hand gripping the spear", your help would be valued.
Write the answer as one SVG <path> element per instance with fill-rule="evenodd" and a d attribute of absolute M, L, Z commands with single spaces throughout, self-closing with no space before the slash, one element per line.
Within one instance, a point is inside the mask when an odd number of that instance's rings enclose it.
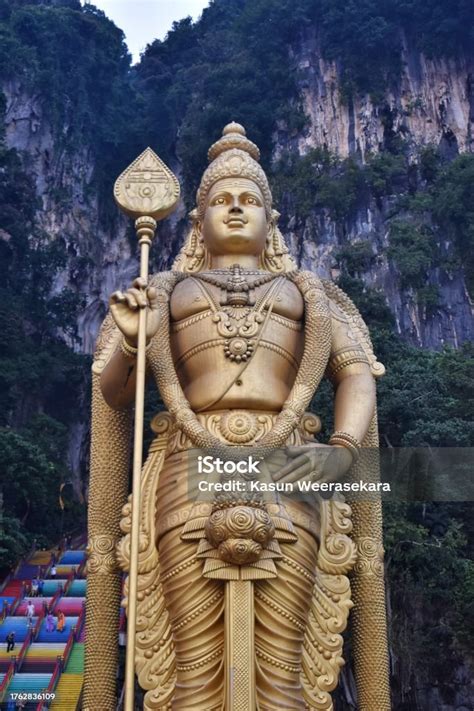
<path fill-rule="evenodd" d="M 125 348 L 119 348 L 109 360 L 100 377 L 104 400 L 115 410 L 125 410 L 135 399 L 136 357 L 133 350 L 138 342 L 138 317 L 141 308 L 147 309 L 147 343 L 155 335 L 158 325 L 156 290 L 135 279 L 126 292 L 116 291 L 110 297 L 110 311 L 123 335 Z M 127 349 L 127 344 L 130 348 Z"/>

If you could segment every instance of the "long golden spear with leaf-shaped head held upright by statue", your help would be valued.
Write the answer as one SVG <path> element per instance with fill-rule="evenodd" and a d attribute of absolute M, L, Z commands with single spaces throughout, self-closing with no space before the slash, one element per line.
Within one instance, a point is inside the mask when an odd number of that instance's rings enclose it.
<path fill-rule="evenodd" d="M 125 711 L 133 711 L 135 690 L 135 634 L 137 606 L 138 544 L 140 535 L 140 479 L 142 470 L 143 418 L 145 400 L 145 356 L 147 345 L 148 300 L 153 290 L 147 289 L 148 263 L 157 221 L 163 220 L 177 206 L 179 183 L 175 175 L 147 148 L 117 178 L 114 197 L 123 212 L 135 219 L 140 245 L 140 276 L 133 286 L 138 308 L 137 365 L 135 386 L 135 423 L 133 441 L 132 531 L 127 613 L 127 654 L 125 667 Z M 123 297 L 126 300 L 126 297 Z M 116 302 L 120 302 L 120 297 Z M 118 306 L 119 303 L 116 303 Z M 151 316 L 153 319 L 154 315 Z M 149 324 L 153 329 L 153 324 Z M 150 329 L 148 329 L 150 330 Z M 126 328 L 124 335 L 127 337 Z"/>

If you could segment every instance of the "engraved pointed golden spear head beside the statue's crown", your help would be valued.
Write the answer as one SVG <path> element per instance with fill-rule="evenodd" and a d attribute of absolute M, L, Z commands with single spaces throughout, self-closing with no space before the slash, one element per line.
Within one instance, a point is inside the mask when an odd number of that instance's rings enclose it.
<path fill-rule="evenodd" d="M 146 148 L 117 178 L 114 198 L 135 219 L 144 215 L 163 220 L 178 204 L 176 176 L 151 148 Z"/>

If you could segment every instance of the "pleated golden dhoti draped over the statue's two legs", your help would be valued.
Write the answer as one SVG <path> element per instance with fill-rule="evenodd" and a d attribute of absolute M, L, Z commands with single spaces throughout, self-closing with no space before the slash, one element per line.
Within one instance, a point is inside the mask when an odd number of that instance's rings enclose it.
<path fill-rule="evenodd" d="M 186 451 L 166 458 L 156 507 L 160 580 L 176 654 L 177 682 L 172 709 L 211 711 L 226 708 L 226 583 L 203 577 L 203 562 L 196 555 L 197 543 L 181 538 L 184 524 L 196 512 L 189 495 L 188 466 Z M 281 504 L 292 520 L 297 541 L 280 543 L 276 578 L 253 584 L 259 711 L 306 708 L 300 673 L 315 582 L 318 509 L 316 503 L 311 506 L 290 501 L 288 497 L 281 497 Z"/>

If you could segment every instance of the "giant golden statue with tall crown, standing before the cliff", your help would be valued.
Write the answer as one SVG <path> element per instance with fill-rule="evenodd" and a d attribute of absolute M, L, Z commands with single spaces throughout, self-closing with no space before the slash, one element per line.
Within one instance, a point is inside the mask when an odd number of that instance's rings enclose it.
<path fill-rule="evenodd" d="M 283 452 L 274 483 L 348 470 L 360 478 L 362 466 L 375 480 L 374 377 L 383 373 L 350 299 L 289 256 L 243 127 L 226 126 L 209 160 L 172 271 L 115 292 L 98 339 L 83 708 L 116 705 L 130 405 L 146 310 L 147 369 L 166 412 L 153 419 L 140 483 L 134 655 L 144 708 L 332 709 L 354 605 L 359 708 L 388 711 L 380 503 L 354 502 L 351 514 L 336 497 L 239 494 L 237 484 L 209 500 L 190 495 L 196 450 L 222 461 Z M 335 391 L 329 445 L 316 442 L 318 418 L 307 411 L 324 376 Z M 363 463 L 362 447 L 373 453 Z"/>

